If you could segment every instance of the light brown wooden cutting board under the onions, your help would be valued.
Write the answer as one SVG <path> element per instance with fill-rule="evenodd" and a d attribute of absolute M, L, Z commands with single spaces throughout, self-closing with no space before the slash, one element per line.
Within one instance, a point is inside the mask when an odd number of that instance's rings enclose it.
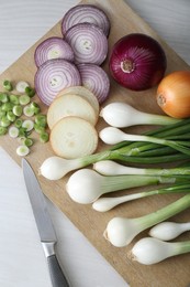
<path fill-rule="evenodd" d="M 132 33 L 142 32 L 155 38 L 163 45 L 167 60 L 168 68 L 166 73 L 177 70 L 189 70 L 189 66 L 169 47 L 166 43 L 138 17 L 130 7 L 127 7 L 122 0 L 87 0 L 81 3 L 93 3 L 102 8 L 110 21 L 111 32 L 109 36 L 109 50 L 111 50 L 113 43 L 115 43 L 121 36 Z M 3 79 L 10 79 L 18 82 L 20 79 L 27 81 L 33 85 L 34 74 L 36 67 L 34 64 L 34 50 L 42 40 L 58 35 L 60 33 L 60 22 L 58 22 L 47 34 L 44 35 L 37 43 L 35 43 L 25 54 L 23 54 L 13 65 L 11 65 L 0 76 L 0 83 Z M 108 61 L 103 64 L 105 71 L 108 71 Z M 2 89 L 2 86 L 1 86 Z M 155 100 L 156 89 L 152 88 L 145 92 L 131 92 L 119 86 L 111 79 L 110 97 L 104 103 L 122 100 L 135 106 L 138 109 L 161 114 L 161 110 L 156 105 Z M 35 100 L 38 100 L 35 98 Z M 46 113 L 47 108 L 41 104 L 43 111 Z M 97 128 L 100 130 L 105 124 L 99 121 Z M 135 131 L 141 132 L 141 128 L 135 128 Z M 21 158 L 16 156 L 15 149 L 18 141 L 11 139 L 9 136 L 0 138 L 0 144 L 7 150 L 7 152 L 21 164 Z M 98 150 L 105 149 L 102 144 L 99 145 Z M 26 159 L 32 164 L 37 174 L 37 170 L 42 162 L 49 156 L 53 156 L 53 150 L 49 144 L 42 145 L 38 141 L 32 148 L 32 152 Z M 153 266 L 143 266 L 135 262 L 132 262 L 127 257 L 128 251 L 134 243 L 142 236 L 147 235 L 147 231 L 137 236 L 132 244 L 127 247 L 116 248 L 109 244 L 102 236 L 103 231 L 108 222 L 113 216 L 128 216 L 136 217 L 166 205 L 169 202 L 175 201 L 179 195 L 157 195 L 149 199 L 143 199 L 134 201 L 127 204 L 123 204 L 120 208 L 107 213 L 98 213 L 91 209 L 91 205 L 80 205 L 74 203 L 65 192 L 65 184 L 68 177 L 59 181 L 47 181 L 43 177 L 38 177 L 44 193 L 48 199 L 57 205 L 72 222 L 74 224 L 86 235 L 86 237 L 97 247 L 97 249 L 108 259 L 108 262 L 123 276 L 123 278 L 130 284 L 130 286 L 172 286 L 183 287 L 190 284 L 190 255 L 182 255 L 178 257 L 169 258 L 163 263 Z M 142 190 L 142 189 L 138 189 Z M 132 191 L 127 191 L 128 193 Z M 176 221 L 188 221 L 190 217 L 190 211 L 182 212 L 180 215 L 175 216 Z M 188 234 L 181 235 L 179 240 L 188 240 Z"/>

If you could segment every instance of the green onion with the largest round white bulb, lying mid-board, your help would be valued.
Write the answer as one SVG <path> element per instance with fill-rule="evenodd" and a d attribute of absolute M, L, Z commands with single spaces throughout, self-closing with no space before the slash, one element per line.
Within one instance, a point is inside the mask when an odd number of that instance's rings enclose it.
<path fill-rule="evenodd" d="M 186 177 L 186 180 L 189 176 Z M 160 176 L 113 176 L 105 177 L 91 169 L 80 169 L 71 174 L 66 190 L 69 196 L 82 204 L 94 202 L 99 196 L 108 192 L 114 192 L 136 187 L 160 184 L 160 183 L 178 183 L 185 178 L 178 177 L 160 177 Z"/>

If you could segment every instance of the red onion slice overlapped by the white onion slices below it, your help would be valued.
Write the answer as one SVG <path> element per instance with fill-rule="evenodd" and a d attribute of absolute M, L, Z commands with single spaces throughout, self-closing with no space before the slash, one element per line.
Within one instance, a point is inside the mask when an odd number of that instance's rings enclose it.
<path fill-rule="evenodd" d="M 64 59 L 53 59 L 40 66 L 34 78 L 41 100 L 49 106 L 58 92 L 69 86 L 80 86 L 80 73 L 75 64 Z"/>

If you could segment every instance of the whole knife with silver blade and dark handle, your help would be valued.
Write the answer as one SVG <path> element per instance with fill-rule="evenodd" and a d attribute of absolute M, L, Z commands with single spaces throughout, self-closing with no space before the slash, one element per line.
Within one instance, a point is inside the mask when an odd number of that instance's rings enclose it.
<path fill-rule="evenodd" d="M 41 185 L 33 169 L 25 159 L 22 159 L 22 169 L 41 243 L 47 259 L 52 285 L 53 287 L 69 287 L 68 279 L 64 275 L 56 257 L 55 244 L 57 238 Z"/>

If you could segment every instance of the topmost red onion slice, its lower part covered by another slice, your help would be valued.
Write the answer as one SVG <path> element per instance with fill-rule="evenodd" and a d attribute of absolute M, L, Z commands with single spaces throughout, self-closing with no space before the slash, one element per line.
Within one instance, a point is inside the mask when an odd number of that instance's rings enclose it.
<path fill-rule="evenodd" d="M 110 20 L 100 8 L 93 4 L 75 6 L 64 15 L 62 32 L 65 35 L 67 30 L 79 23 L 91 23 L 101 28 L 108 36 L 110 32 Z"/>

